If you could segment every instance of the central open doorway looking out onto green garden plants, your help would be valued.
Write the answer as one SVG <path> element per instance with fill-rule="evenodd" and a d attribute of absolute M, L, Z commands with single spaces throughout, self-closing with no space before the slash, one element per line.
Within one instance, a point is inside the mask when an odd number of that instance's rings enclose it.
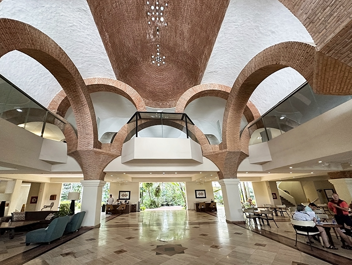
<path fill-rule="evenodd" d="M 185 182 L 140 183 L 141 210 L 157 208 L 186 209 L 185 186 Z"/>

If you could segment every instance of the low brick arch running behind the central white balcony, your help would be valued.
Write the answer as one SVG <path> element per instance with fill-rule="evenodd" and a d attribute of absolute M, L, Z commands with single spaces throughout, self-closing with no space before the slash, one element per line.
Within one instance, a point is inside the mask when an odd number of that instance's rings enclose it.
<path fill-rule="evenodd" d="M 159 119 L 143 119 L 139 120 L 138 131 L 145 129 L 147 127 L 160 125 L 161 121 Z M 177 128 L 181 131 L 186 130 L 185 122 L 181 120 L 162 120 L 163 125 L 171 126 Z M 114 152 L 118 155 L 121 155 L 122 145 L 129 141 L 135 135 L 135 123 L 127 123 L 117 132 L 113 143 L 111 144 L 110 151 Z M 188 129 L 190 131 L 190 138 L 195 142 L 198 142 L 201 145 L 202 152 L 207 153 L 211 152 L 212 149 L 216 149 L 216 146 L 212 146 L 209 144 L 208 139 L 203 134 L 203 132 L 196 126 L 192 124 L 188 124 Z"/>

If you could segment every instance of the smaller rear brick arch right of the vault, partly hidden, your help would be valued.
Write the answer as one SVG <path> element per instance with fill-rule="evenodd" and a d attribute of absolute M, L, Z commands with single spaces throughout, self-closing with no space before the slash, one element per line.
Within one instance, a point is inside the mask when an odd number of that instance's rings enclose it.
<path fill-rule="evenodd" d="M 231 91 L 231 87 L 222 85 L 222 84 L 207 83 L 207 84 L 196 85 L 188 89 L 179 98 L 176 104 L 175 112 L 184 112 L 185 108 L 189 103 L 191 103 L 193 100 L 197 98 L 204 97 L 204 96 L 220 97 L 227 100 L 230 94 L 230 91 Z M 243 115 L 245 116 L 248 122 L 252 121 L 255 118 L 260 117 L 258 109 L 250 100 L 248 100 L 246 104 Z"/>

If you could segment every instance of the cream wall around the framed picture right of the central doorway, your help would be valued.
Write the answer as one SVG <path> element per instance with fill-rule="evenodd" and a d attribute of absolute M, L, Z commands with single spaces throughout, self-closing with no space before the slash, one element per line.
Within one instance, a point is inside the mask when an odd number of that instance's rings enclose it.
<path fill-rule="evenodd" d="M 211 199 L 214 200 L 213 186 L 212 182 L 204 182 L 203 185 L 197 184 L 198 182 L 186 182 L 186 199 L 187 199 L 187 209 L 195 209 L 195 202 L 210 202 Z M 196 199 L 195 190 L 205 190 L 206 198 Z"/>

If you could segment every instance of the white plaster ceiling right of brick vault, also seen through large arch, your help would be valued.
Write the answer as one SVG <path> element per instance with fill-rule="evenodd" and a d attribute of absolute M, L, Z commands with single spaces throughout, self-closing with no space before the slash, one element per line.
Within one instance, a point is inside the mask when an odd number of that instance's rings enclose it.
<path fill-rule="evenodd" d="M 243 67 L 256 54 L 286 41 L 313 44 L 301 22 L 278 0 L 231 0 L 202 83 L 232 87 Z M 304 82 L 293 71 L 280 71 L 275 78 L 259 85 L 250 100 L 260 114 Z"/>

